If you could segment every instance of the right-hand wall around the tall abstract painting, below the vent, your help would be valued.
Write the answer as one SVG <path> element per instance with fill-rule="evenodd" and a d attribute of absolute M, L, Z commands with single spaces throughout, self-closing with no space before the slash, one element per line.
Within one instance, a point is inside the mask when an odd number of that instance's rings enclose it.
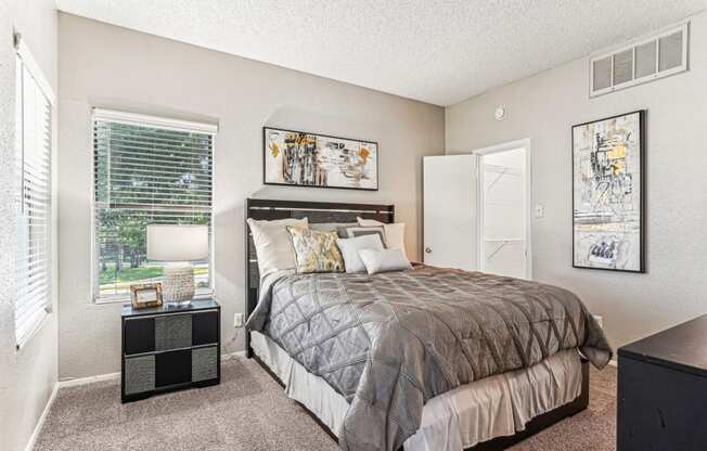
<path fill-rule="evenodd" d="M 686 74 L 589 99 L 581 59 L 446 109 L 448 153 L 530 138 L 532 203 L 545 206 L 532 223 L 535 278 L 576 292 L 614 346 L 707 313 L 706 13 L 691 35 Z M 570 127 L 639 108 L 648 111 L 647 273 L 573 269 Z"/>

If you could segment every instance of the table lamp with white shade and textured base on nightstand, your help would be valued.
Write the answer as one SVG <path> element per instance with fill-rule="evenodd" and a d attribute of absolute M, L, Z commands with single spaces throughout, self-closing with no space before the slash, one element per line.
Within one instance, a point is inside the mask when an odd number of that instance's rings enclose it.
<path fill-rule="evenodd" d="M 147 226 L 147 260 L 166 261 L 162 294 L 171 305 L 189 305 L 194 297 L 193 260 L 208 258 L 208 226 Z"/>

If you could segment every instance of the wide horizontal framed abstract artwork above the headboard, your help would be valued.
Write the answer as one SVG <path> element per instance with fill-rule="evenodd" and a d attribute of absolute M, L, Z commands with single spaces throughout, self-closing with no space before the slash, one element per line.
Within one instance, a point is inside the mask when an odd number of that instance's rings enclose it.
<path fill-rule="evenodd" d="M 262 128 L 263 183 L 378 189 L 378 144 L 297 130 Z"/>

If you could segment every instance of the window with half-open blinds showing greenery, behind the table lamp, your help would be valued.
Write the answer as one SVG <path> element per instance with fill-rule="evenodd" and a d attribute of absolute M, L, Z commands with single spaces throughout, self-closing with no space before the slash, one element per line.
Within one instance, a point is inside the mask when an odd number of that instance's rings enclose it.
<path fill-rule="evenodd" d="M 93 111 L 94 299 L 123 301 L 130 285 L 159 281 L 166 262 L 145 258 L 149 224 L 206 224 L 213 243 L 215 133 L 210 125 Z M 211 259 L 193 265 L 196 295 L 210 294 Z"/>

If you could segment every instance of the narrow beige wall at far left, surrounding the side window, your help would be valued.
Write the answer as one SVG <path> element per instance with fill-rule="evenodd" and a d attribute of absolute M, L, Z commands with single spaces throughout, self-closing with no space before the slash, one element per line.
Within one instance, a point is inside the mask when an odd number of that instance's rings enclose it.
<path fill-rule="evenodd" d="M 15 348 L 16 217 L 14 172 L 15 53 L 20 31 L 44 76 L 56 89 L 56 11 L 52 0 L 0 0 L 0 448 L 24 450 L 57 377 L 56 296 L 54 313 Z M 55 154 L 54 154 L 55 156 Z M 55 292 L 54 292 L 55 294 Z"/>

